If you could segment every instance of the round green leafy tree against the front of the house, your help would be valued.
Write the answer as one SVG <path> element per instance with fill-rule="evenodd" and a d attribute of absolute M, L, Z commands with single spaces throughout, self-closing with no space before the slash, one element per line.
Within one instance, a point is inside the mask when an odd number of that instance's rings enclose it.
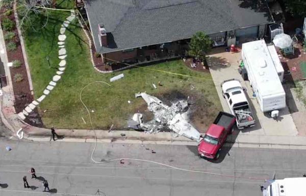
<path fill-rule="evenodd" d="M 212 40 L 204 32 L 196 32 L 189 43 L 188 54 L 195 58 L 206 59 L 212 47 Z"/>

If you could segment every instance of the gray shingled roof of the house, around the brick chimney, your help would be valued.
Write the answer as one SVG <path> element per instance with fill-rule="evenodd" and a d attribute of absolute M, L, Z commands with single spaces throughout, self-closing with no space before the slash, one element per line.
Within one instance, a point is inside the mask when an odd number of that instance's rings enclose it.
<path fill-rule="evenodd" d="M 99 53 L 191 38 L 273 22 L 266 3 L 253 0 L 88 0 L 87 14 Z M 265 2 L 265 1 L 264 1 Z M 108 33 L 100 47 L 98 24 Z"/>

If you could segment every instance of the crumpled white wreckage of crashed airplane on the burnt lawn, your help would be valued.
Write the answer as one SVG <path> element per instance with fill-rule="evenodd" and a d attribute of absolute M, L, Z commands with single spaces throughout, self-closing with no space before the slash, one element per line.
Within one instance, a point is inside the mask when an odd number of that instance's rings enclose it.
<path fill-rule="evenodd" d="M 154 113 L 154 119 L 143 123 L 142 114 L 136 113 L 132 120 L 127 121 L 129 128 L 158 133 L 164 126 L 167 126 L 179 135 L 196 141 L 200 140 L 200 133 L 188 121 L 187 111 L 189 107 L 187 101 L 178 101 L 169 107 L 157 97 L 145 92 L 135 94 L 135 97 L 140 96 L 147 103 L 148 110 Z"/>

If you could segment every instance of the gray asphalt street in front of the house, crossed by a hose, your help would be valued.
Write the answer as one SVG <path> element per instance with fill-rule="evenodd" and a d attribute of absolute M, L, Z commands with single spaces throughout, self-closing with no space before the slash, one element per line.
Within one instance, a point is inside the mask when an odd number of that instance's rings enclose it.
<path fill-rule="evenodd" d="M 9 145 L 12 150 L 6 151 Z M 94 143 L 27 142 L 0 140 L 0 195 L 49 195 L 42 179 L 57 195 L 261 195 L 263 180 L 198 174 L 154 163 L 123 160 L 95 164 L 90 160 Z M 222 175 L 271 178 L 300 177 L 306 173 L 304 151 L 224 149 L 220 161 L 198 158 L 195 146 L 98 143 L 94 159 L 139 158 Z M 149 149 L 149 150 L 147 150 Z M 151 153 L 154 150 L 154 153 Z M 228 151 L 229 150 L 229 151 Z M 40 180 L 31 179 L 34 167 Z M 23 188 L 28 176 L 31 188 Z M 103 195 L 103 193 L 101 193 Z"/>

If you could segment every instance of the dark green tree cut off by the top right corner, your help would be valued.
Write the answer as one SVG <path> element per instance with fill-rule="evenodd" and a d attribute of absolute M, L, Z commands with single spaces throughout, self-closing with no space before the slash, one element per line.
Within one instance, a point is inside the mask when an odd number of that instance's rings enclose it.
<path fill-rule="evenodd" d="M 305 0 L 284 0 L 286 11 L 293 16 L 306 17 L 306 1 Z"/>

